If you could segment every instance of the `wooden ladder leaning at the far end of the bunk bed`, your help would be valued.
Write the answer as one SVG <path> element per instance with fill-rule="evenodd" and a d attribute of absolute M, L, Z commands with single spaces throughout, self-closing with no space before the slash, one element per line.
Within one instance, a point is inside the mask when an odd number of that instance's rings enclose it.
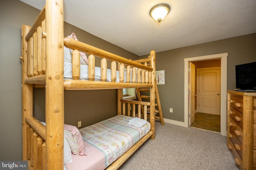
<path fill-rule="evenodd" d="M 164 118 L 163 118 L 162 107 L 161 107 L 161 103 L 160 103 L 160 97 L 159 97 L 159 93 L 158 93 L 156 80 L 155 80 L 155 85 L 156 85 L 156 88 L 155 88 L 156 89 L 156 104 L 155 104 L 155 106 L 156 106 L 156 110 L 155 110 L 156 115 L 155 115 L 155 118 L 160 120 L 161 125 L 164 125 Z M 137 93 L 139 101 L 150 100 L 150 96 L 141 95 L 140 92 L 150 92 L 150 88 L 136 88 L 136 93 Z M 148 108 L 148 111 L 150 111 L 150 108 Z M 143 109 L 142 109 L 142 113 L 144 113 Z M 142 115 L 144 115 L 144 114 L 142 114 Z M 149 117 L 149 115 L 148 115 L 148 117 Z"/>

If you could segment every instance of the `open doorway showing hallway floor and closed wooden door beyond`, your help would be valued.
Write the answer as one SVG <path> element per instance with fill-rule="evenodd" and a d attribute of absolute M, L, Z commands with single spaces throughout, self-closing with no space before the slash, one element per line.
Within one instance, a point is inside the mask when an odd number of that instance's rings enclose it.
<path fill-rule="evenodd" d="M 194 74 L 196 81 L 191 80 L 190 86 L 195 86 L 195 93 L 190 90 L 190 105 L 194 104 L 194 119 L 189 125 L 220 133 L 220 59 L 190 62 L 190 74 Z M 192 65 L 196 68 L 192 69 Z M 196 70 L 193 72 L 192 70 Z M 191 102 L 192 97 L 196 102 Z M 193 106 L 190 106 L 193 108 Z"/>

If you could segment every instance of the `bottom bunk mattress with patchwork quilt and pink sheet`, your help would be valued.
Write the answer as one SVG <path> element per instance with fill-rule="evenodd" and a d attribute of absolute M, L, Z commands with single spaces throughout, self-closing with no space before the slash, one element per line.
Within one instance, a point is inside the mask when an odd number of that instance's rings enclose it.
<path fill-rule="evenodd" d="M 100 170 L 107 168 L 150 131 L 150 123 L 130 125 L 133 117 L 116 115 L 94 125 L 79 129 L 86 155 L 72 154 L 67 170 Z"/>

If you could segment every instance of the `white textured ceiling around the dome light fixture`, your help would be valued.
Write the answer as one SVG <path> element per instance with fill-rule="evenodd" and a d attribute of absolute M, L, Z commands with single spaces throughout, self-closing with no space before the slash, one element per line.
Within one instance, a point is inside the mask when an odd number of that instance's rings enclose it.
<path fill-rule="evenodd" d="M 21 0 L 42 10 L 44 0 Z M 170 13 L 149 15 L 160 3 Z M 64 0 L 64 21 L 136 55 L 256 33 L 255 0 Z"/>

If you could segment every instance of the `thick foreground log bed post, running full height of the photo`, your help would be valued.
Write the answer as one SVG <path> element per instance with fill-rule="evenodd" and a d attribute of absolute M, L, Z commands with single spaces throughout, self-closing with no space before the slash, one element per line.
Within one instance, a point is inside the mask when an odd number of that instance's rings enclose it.
<path fill-rule="evenodd" d="M 46 0 L 46 33 L 46 169 L 63 170 L 63 0 Z"/>

